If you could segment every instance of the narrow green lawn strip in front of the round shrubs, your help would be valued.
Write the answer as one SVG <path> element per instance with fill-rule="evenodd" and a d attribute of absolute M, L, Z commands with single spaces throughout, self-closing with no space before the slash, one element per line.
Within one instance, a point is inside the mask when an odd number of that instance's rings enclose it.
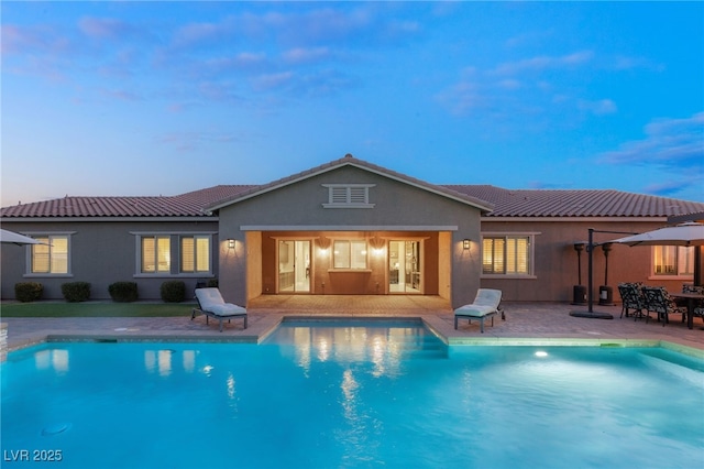
<path fill-rule="evenodd" d="M 186 303 L 9 303 L 0 305 L 2 317 L 172 317 L 189 316 Z"/>

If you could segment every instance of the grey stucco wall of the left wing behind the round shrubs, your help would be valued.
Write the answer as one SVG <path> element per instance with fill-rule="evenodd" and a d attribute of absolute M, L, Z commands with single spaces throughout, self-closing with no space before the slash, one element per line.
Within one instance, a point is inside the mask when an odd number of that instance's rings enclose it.
<path fill-rule="evenodd" d="M 38 282 L 44 286 L 43 298 L 62 299 L 61 286 L 67 282 L 89 282 L 91 299 L 109 299 L 108 286 L 114 282 L 136 282 L 140 299 L 161 299 L 161 285 L 168 280 L 186 283 L 187 296 L 196 284 L 217 277 L 219 263 L 212 255 L 212 275 L 178 274 L 178 242 L 172 237 L 172 274 L 139 274 L 138 241 L 133 233 L 212 233 L 218 246 L 216 221 L 2 221 L 8 230 L 24 233 L 58 233 L 70 236 L 70 273 L 68 275 L 28 274 L 29 247 L 2 244 L 2 282 L 0 295 L 14 298 L 18 282 Z M 189 293 L 190 292 L 190 293 Z"/>

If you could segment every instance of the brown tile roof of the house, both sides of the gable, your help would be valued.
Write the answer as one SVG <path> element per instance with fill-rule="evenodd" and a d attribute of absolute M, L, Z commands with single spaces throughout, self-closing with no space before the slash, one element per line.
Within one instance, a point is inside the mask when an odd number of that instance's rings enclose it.
<path fill-rule="evenodd" d="M 3 207 L 0 218 L 120 218 L 207 217 L 212 207 L 260 194 L 336 167 L 341 160 L 265 185 L 219 185 L 176 196 L 158 197 L 64 197 L 54 200 Z M 365 163 L 370 168 L 377 166 Z M 384 170 L 384 174 L 397 173 Z M 402 177 L 402 176 L 398 176 Z M 417 179 L 403 176 L 411 183 Z M 418 182 L 420 184 L 421 182 Z M 680 200 L 612 189 L 550 190 L 505 189 L 492 185 L 422 186 L 465 200 L 479 200 L 494 210 L 488 218 L 560 217 L 673 217 L 704 212 L 704 203 Z"/>

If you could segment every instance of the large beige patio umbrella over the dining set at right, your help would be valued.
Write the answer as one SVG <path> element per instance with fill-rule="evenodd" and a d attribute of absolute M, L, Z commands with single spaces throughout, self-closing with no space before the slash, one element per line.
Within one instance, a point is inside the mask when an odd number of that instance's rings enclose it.
<path fill-rule="evenodd" d="M 616 239 L 628 246 L 694 246 L 694 284 L 702 284 L 702 246 L 704 246 L 704 225 L 686 222 L 673 227 L 659 228 L 645 233 Z"/>

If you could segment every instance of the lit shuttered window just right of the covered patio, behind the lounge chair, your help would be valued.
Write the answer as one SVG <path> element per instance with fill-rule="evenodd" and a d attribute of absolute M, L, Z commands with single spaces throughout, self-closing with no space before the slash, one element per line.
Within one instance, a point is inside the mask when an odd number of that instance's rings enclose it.
<path fill-rule="evenodd" d="M 530 275 L 530 236 L 484 237 L 482 273 Z"/>

